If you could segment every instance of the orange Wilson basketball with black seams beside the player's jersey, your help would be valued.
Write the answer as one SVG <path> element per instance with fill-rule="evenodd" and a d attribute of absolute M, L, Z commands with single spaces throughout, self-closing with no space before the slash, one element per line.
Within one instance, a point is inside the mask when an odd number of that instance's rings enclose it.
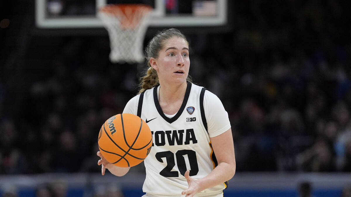
<path fill-rule="evenodd" d="M 102 125 L 98 137 L 101 154 L 118 167 L 144 161 L 152 145 L 152 134 L 144 120 L 133 114 L 117 114 Z"/>

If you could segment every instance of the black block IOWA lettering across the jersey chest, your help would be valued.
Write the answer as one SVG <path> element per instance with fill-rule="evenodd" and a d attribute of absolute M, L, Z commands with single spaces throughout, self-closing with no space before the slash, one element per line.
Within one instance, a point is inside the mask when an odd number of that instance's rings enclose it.
<path fill-rule="evenodd" d="M 164 146 L 166 144 L 166 136 L 168 144 L 173 146 L 176 145 L 190 144 L 190 141 L 193 144 L 197 143 L 196 136 L 194 134 L 194 129 L 186 129 L 185 139 L 184 139 L 184 129 L 183 130 L 169 130 L 169 131 L 151 131 L 154 136 L 154 143 L 152 146 Z"/>

